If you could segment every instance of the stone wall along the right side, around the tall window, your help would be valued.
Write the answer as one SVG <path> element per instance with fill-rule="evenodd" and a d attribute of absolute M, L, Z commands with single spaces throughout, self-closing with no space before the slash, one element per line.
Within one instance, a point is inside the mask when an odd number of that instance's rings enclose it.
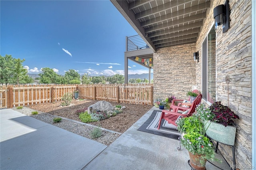
<path fill-rule="evenodd" d="M 211 1 L 207 18 L 196 43 L 196 51 L 202 51 L 202 42 L 214 24 L 213 8 L 224 4 L 225 0 Z M 230 29 L 222 33 L 216 30 L 216 101 L 228 105 L 228 86 L 225 76 L 229 75 L 229 106 L 240 120 L 236 121 L 235 152 L 236 165 L 252 164 L 252 4 L 250 0 L 230 0 Z M 199 56 L 200 57 L 200 56 Z M 196 84 L 201 86 L 201 59 L 196 66 Z M 154 70 L 155 71 L 155 70 Z M 230 146 L 220 144 L 222 154 L 232 163 Z M 240 168 L 242 169 L 242 168 Z"/>

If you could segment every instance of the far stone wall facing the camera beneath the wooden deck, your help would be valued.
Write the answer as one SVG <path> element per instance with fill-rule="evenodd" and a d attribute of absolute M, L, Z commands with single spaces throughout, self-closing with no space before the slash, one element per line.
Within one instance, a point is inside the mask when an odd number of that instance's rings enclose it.
<path fill-rule="evenodd" d="M 154 53 L 154 98 L 174 95 L 186 99 L 196 85 L 195 43 L 160 48 Z"/>

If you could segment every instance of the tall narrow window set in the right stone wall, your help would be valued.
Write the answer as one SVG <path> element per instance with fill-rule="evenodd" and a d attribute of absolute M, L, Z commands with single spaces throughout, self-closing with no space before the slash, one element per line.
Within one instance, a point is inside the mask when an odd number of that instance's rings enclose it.
<path fill-rule="evenodd" d="M 216 34 L 214 26 L 202 43 L 202 98 L 216 101 Z"/>

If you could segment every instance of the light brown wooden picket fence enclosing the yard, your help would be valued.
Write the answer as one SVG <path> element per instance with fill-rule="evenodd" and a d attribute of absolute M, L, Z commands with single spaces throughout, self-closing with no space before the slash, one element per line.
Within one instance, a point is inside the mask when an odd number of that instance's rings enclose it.
<path fill-rule="evenodd" d="M 1 109 L 60 101 L 65 93 L 76 90 L 78 99 L 153 105 L 152 84 L 3 85 L 0 90 Z"/>

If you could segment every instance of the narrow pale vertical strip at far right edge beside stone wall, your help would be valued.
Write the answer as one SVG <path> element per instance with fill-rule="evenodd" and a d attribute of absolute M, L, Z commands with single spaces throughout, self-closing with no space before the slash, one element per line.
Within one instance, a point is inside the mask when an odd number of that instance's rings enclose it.
<path fill-rule="evenodd" d="M 252 167 L 256 167 L 256 1 L 252 0 Z"/>

